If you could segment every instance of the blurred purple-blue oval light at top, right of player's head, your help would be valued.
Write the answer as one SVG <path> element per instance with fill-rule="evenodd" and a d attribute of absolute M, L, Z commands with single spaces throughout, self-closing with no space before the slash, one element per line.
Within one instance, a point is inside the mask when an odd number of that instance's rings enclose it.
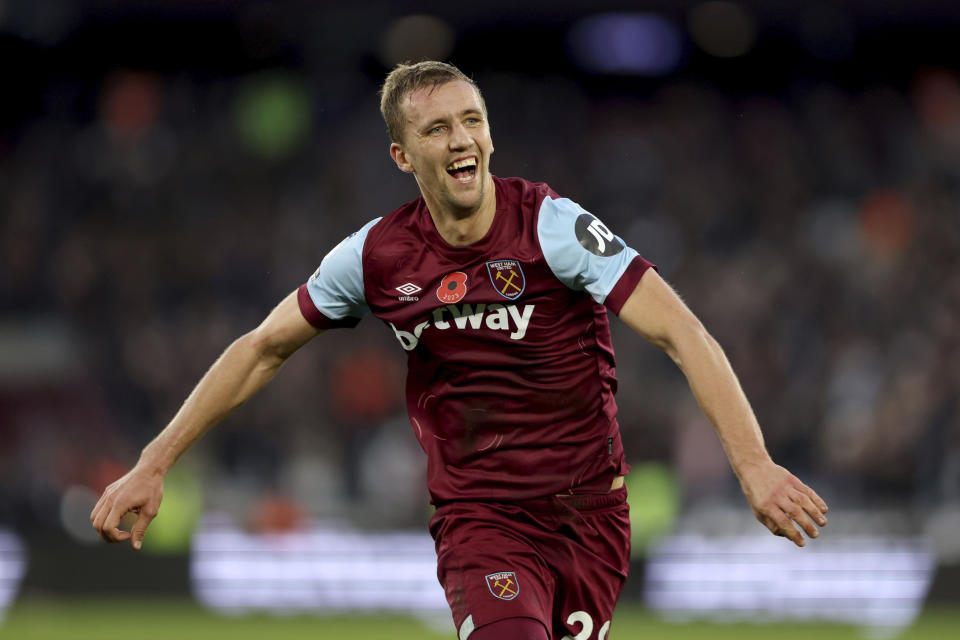
<path fill-rule="evenodd" d="M 567 47 L 580 67 L 612 75 L 666 75 L 677 68 L 683 53 L 673 23 L 642 13 L 584 18 L 571 27 Z"/>

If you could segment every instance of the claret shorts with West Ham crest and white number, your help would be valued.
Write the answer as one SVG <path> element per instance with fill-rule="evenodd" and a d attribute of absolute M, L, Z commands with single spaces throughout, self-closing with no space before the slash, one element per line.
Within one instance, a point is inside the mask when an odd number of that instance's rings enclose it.
<path fill-rule="evenodd" d="M 606 640 L 627 578 L 626 487 L 523 502 L 452 502 L 430 521 L 459 640 L 504 618 L 551 636 Z"/>

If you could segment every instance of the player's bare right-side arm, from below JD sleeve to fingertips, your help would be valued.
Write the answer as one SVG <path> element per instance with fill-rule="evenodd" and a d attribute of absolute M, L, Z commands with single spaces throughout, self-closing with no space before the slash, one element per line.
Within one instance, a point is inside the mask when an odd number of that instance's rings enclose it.
<path fill-rule="evenodd" d="M 620 318 L 663 349 L 683 371 L 700 408 L 717 430 L 754 515 L 771 532 L 804 546 L 827 523 L 827 504 L 775 464 L 730 362 L 697 317 L 653 269 L 620 309 Z"/>

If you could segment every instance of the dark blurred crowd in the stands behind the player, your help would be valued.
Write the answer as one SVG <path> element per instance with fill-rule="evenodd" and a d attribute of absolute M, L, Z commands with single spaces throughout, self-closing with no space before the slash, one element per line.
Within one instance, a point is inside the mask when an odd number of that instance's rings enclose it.
<path fill-rule="evenodd" d="M 548 182 L 658 264 L 778 462 L 841 504 L 960 501 L 956 73 L 643 97 L 475 75 L 494 173 Z M 0 524 L 50 529 L 70 487 L 101 491 L 332 246 L 418 195 L 377 81 L 118 71 L 51 85 L 0 138 Z M 735 499 L 682 375 L 613 324 L 628 459 L 668 464 L 685 500 Z M 207 508 L 421 522 L 403 358 L 374 318 L 308 345 L 184 459 Z"/>

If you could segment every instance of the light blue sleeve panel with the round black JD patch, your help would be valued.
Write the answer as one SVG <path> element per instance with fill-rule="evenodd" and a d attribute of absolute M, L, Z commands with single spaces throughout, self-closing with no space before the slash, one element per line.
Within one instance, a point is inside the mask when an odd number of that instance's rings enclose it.
<path fill-rule="evenodd" d="M 543 199 L 537 237 L 553 275 L 600 304 L 637 257 L 599 219 L 567 198 Z"/>

